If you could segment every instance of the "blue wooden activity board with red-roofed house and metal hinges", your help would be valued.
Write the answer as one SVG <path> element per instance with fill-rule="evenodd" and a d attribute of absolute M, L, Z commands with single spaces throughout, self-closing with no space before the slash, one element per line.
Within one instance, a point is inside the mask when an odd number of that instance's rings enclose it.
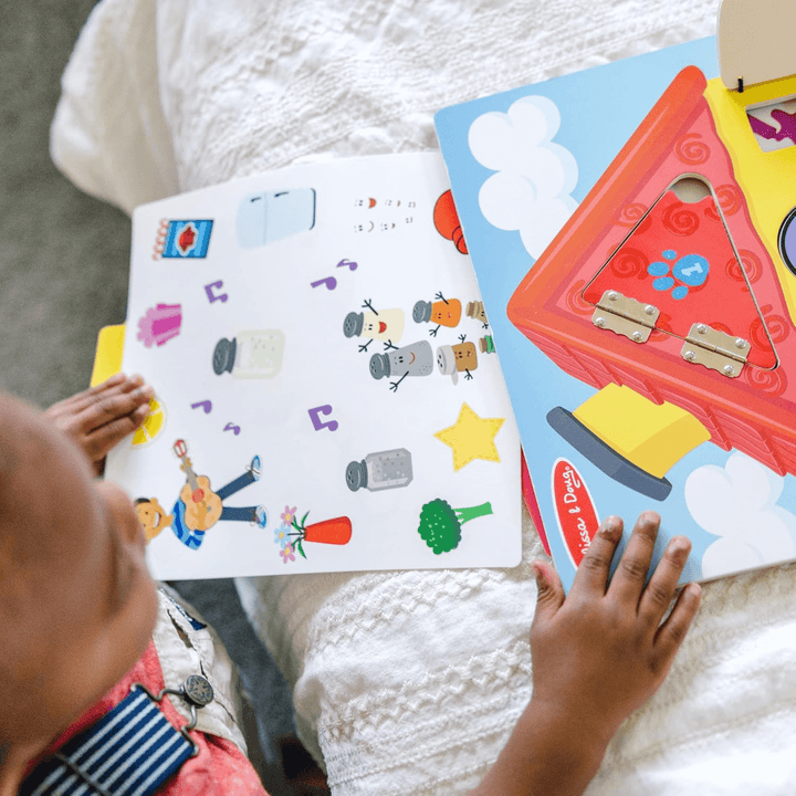
<path fill-rule="evenodd" d="M 796 558 L 794 24 L 725 0 L 721 76 L 708 39 L 437 114 L 567 587 L 648 507 L 683 580 Z"/>

